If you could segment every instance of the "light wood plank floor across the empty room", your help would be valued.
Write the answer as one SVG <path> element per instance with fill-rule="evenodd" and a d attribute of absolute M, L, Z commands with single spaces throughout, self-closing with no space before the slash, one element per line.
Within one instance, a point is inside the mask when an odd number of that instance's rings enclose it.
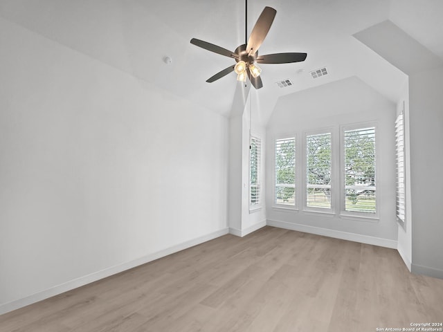
<path fill-rule="evenodd" d="M 443 322 L 396 250 L 266 227 L 0 316 L 0 331 L 376 331 Z"/>

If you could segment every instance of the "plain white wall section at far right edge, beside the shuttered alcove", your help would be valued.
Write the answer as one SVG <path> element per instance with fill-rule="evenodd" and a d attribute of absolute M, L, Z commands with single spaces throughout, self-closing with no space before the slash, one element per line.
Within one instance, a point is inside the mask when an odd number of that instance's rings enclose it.
<path fill-rule="evenodd" d="M 443 278 L 443 66 L 409 76 L 412 271 Z"/>

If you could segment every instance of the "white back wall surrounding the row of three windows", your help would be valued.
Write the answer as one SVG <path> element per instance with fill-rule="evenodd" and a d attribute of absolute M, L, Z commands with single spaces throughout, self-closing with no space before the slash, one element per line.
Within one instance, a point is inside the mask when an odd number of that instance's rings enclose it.
<path fill-rule="evenodd" d="M 273 208 L 273 190 L 266 192 L 267 219 L 270 225 L 314 232 L 331 237 L 397 248 L 395 221 L 395 104 L 383 98 L 357 77 L 318 86 L 280 98 L 269 122 L 267 150 L 273 154 L 277 136 L 298 133 L 301 150 L 305 131 L 333 128 L 338 137 L 341 124 L 377 123 L 379 158 L 377 164 L 377 196 L 379 220 L 341 218 L 302 210 Z M 333 147 L 334 149 L 334 147 Z M 338 146 L 336 146 L 338 149 Z M 337 151 L 338 152 L 338 151 Z M 302 151 L 299 151 L 302 153 Z M 336 154 L 338 156 L 338 154 Z M 300 159 L 299 159 L 300 160 Z M 273 158 L 266 159 L 266 185 L 273 188 Z M 298 167 L 299 178 L 304 176 Z M 340 182 L 339 178 L 335 178 Z"/>

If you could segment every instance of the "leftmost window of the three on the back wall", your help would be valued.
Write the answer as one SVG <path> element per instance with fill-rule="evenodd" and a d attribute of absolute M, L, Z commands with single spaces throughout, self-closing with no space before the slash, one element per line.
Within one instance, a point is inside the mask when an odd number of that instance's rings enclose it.
<path fill-rule="evenodd" d="M 275 204 L 296 205 L 296 138 L 275 140 Z"/>

